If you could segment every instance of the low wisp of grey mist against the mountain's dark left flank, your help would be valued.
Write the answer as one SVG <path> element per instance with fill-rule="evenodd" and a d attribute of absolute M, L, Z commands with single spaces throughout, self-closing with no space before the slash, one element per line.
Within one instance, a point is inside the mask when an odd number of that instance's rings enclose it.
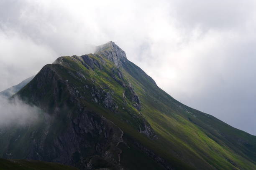
<path fill-rule="evenodd" d="M 0 127 L 35 123 L 40 113 L 37 107 L 27 105 L 17 97 L 8 100 L 0 96 L 0 110 Z"/>

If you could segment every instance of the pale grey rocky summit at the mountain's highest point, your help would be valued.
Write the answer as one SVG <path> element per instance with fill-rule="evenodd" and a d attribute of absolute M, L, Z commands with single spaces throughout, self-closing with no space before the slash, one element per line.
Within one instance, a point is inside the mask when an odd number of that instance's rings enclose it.
<path fill-rule="evenodd" d="M 115 63 L 118 68 L 123 67 L 122 63 L 126 61 L 125 52 L 113 41 L 96 47 L 95 54 L 102 55 Z"/>

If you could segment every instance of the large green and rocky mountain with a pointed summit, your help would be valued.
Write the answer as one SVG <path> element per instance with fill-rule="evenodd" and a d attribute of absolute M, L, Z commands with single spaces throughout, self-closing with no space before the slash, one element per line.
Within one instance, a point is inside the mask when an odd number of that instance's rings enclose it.
<path fill-rule="evenodd" d="M 178 102 L 114 42 L 59 57 L 15 96 L 42 112 L 0 130 L 2 158 L 81 170 L 256 169 L 256 136 Z"/>

